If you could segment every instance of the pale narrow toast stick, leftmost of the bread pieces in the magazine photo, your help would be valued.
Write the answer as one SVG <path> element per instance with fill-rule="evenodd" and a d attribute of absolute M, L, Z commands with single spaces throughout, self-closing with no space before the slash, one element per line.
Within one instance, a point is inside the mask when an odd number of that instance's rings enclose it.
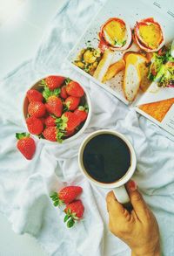
<path fill-rule="evenodd" d="M 104 75 L 110 66 L 112 58 L 113 58 L 113 52 L 110 50 L 105 50 L 104 55 L 100 60 L 100 62 L 98 63 L 97 69 L 93 75 L 95 79 L 101 82 L 104 80 Z"/>

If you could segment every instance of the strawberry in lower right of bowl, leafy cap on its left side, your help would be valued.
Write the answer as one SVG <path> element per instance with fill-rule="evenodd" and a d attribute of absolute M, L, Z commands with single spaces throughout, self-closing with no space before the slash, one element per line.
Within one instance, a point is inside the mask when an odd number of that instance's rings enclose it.
<path fill-rule="evenodd" d="M 80 124 L 79 117 L 72 112 L 64 112 L 64 114 L 61 116 L 61 120 L 62 123 L 60 122 L 60 128 L 62 130 L 65 129 L 66 131 L 72 131 Z"/>

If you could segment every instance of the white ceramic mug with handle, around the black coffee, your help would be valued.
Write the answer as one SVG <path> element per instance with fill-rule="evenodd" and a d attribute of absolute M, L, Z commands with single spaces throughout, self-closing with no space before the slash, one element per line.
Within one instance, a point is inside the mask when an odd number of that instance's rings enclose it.
<path fill-rule="evenodd" d="M 98 182 L 96 179 L 94 179 L 92 176 L 90 176 L 90 174 L 84 168 L 83 155 L 84 155 L 85 146 L 95 136 L 104 135 L 104 134 L 116 135 L 117 137 L 122 139 L 126 143 L 128 148 L 130 149 L 130 155 L 131 155 L 130 168 L 127 170 L 127 172 L 124 174 L 123 177 L 121 177 L 119 180 L 117 180 L 114 183 Z M 112 189 L 117 198 L 117 201 L 121 204 L 126 204 L 126 203 L 130 202 L 130 197 L 128 196 L 128 193 L 124 187 L 124 184 L 127 183 L 131 179 L 131 176 L 133 175 L 134 171 L 136 170 L 137 158 L 136 158 L 136 153 L 131 145 L 131 142 L 129 142 L 128 139 L 124 135 L 118 133 L 117 131 L 110 130 L 110 129 L 97 130 L 96 132 L 91 133 L 84 139 L 84 142 L 80 146 L 80 149 L 78 152 L 78 164 L 79 164 L 80 170 L 82 171 L 84 176 L 86 176 L 89 179 L 90 183 L 94 183 L 95 185 L 105 188 L 105 189 Z"/>

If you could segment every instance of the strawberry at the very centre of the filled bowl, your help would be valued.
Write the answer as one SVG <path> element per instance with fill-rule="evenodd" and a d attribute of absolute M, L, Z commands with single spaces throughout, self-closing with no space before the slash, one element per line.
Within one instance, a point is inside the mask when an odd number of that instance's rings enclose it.
<path fill-rule="evenodd" d="M 45 107 L 50 114 L 54 114 L 57 117 L 60 117 L 63 111 L 62 100 L 57 98 L 55 95 L 52 95 L 48 98 Z"/>

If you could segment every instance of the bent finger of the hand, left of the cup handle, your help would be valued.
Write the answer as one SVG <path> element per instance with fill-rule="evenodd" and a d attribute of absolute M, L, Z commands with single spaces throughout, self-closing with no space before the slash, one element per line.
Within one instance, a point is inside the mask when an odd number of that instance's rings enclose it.
<path fill-rule="evenodd" d="M 107 194 L 106 197 L 106 204 L 107 204 L 107 209 L 109 212 L 110 217 L 116 217 L 117 218 L 122 218 L 124 216 L 124 206 L 120 203 L 117 202 L 116 197 L 114 196 L 114 192 L 110 191 Z"/>

